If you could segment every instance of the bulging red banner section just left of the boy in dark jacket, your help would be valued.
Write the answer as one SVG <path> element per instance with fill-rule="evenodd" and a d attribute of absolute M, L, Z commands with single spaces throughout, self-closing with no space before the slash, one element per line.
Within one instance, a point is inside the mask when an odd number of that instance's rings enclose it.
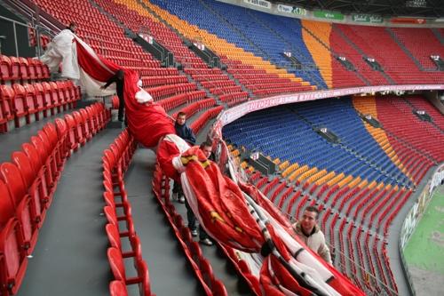
<path fill-rule="evenodd" d="M 163 136 L 176 131 L 162 106 L 156 103 L 140 104 L 136 100 L 136 92 L 139 92 L 138 81 L 139 75 L 135 71 L 125 70 L 123 98 L 128 128 L 136 140 L 152 148 L 157 146 Z"/>

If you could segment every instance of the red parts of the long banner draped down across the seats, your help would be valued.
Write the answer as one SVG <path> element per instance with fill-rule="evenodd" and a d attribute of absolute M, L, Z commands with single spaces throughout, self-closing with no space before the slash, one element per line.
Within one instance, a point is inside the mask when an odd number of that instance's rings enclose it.
<path fill-rule="evenodd" d="M 104 68 L 95 57 L 76 42 L 77 60 L 79 66 L 100 82 L 106 82 L 120 68 L 115 63 L 105 60 L 98 55 L 98 59 L 109 70 Z M 111 71 L 111 72 L 110 72 Z M 135 99 L 136 92 L 139 92 L 137 82 L 139 76 L 132 70 L 124 71 L 124 102 L 128 126 L 131 134 L 136 140 L 146 147 L 155 147 L 159 140 L 167 135 L 174 134 L 175 129 L 172 120 L 165 113 L 165 110 L 158 104 L 139 104 Z M 157 160 L 161 164 L 163 172 L 175 180 L 179 180 L 178 172 L 171 164 L 173 157 L 178 156 L 179 151 L 174 143 L 163 140 L 157 152 Z M 193 188 L 197 199 L 199 215 L 204 227 L 222 244 L 227 244 L 244 252 L 259 252 L 264 238 L 256 220 L 250 215 L 250 211 L 245 204 L 242 191 L 236 184 L 226 176 L 223 176 L 218 169 L 218 165 L 210 162 L 203 168 L 206 161 L 202 151 L 197 147 L 190 148 L 184 156 L 197 156 L 198 161 L 191 161 L 186 164 L 186 176 Z M 282 226 L 289 228 L 289 222 L 284 219 L 274 206 L 264 198 L 257 188 L 241 185 L 267 212 L 270 212 L 274 219 L 278 220 Z M 281 239 L 274 234 L 274 229 L 267 226 L 274 244 L 281 252 L 282 256 L 288 260 L 289 252 L 285 249 Z M 268 274 L 268 262 L 272 265 L 275 276 Z M 344 276 L 340 275 L 336 269 L 329 267 L 330 272 L 335 275 L 335 279 L 329 284 L 342 295 L 364 295 L 351 284 Z M 268 256 L 261 269 L 261 283 L 266 295 L 282 295 L 276 288 L 276 284 L 282 284 L 291 291 L 301 295 L 309 295 L 304 288 L 297 284 L 297 281 L 289 274 L 287 269 L 281 265 L 274 256 Z"/>

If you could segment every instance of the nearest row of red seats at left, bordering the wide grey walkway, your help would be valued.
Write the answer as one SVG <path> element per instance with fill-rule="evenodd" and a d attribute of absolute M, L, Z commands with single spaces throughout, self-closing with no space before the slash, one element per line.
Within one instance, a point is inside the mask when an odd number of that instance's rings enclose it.
<path fill-rule="evenodd" d="M 84 112 L 83 112 L 84 111 Z M 80 138 L 70 137 L 78 127 L 82 139 L 105 128 L 110 114 L 103 104 L 82 109 L 83 120 L 68 124 L 69 116 L 57 118 L 12 153 L 12 163 L 0 164 L 0 292 L 18 292 L 36 246 L 38 232 L 71 148 Z M 84 129 L 87 124 L 88 129 Z"/>

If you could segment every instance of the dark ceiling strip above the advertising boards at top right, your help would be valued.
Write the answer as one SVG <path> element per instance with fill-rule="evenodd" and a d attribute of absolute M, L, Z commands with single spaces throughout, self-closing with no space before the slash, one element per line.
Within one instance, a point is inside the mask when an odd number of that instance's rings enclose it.
<path fill-rule="evenodd" d="M 274 1 L 278 2 L 278 1 Z M 381 16 L 417 18 L 444 17 L 444 0 L 281 0 L 306 9 L 321 9 L 349 13 L 369 13 Z"/>

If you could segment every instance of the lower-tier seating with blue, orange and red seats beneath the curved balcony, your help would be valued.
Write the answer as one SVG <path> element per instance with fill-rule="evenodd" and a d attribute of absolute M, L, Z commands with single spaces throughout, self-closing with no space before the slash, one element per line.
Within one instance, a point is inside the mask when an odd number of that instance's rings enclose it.
<path fill-rule="evenodd" d="M 290 188 L 285 181 L 270 180 L 258 172 L 250 174 L 255 185 L 290 217 L 300 217 L 309 204 L 327 209 L 321 214 L 321 223 L 330 244 L 340 252 L 337 260 L 343 271 L 354 275 L 353 281 L 368 292 L 391 294 L 390 289 L 397 288 L 388 259 L 383 255 L 388 228 L 412 194 L 405 187 L 412 185 L 410 178 L 417 184 L 433 160 L 442 161 L 442 153 L 437 150 L 442 146 L 442 137 L 436 126 L 420 122 L 412 114 L 416 105 L 432 108 L 425 100 L 408 99 L 409 104 L 390 97 L 377 100 L 376 104 L 375 100 L 360 100 L 353 100 L 354 107 L 363 115 L 374 116 L 384 130 L 372 130 L 369 124 L 364 129 L 350 100 L 329 100 L 299 103 L 297 108 L 289 108 L 292 111 L 281 107 L 267 109 L 266 122 L 265 113 L 258 111 L 228 124 L 224 135 L 238 147 L 256 149 L 270 159 L 279 159 L 282 176 L 288 180 L 293 176 Z M 435 115 L 432 110 L 427 112 Z M 333 117 L 340 117 L 341 121 L 335 123 Z M 411 123 L 409 127 L 406 122 Z M 324 147 L 327 142 L 315 140 L 320 136 L 312 131 L 312 126 L 328 127 L 339 136 L 341 144 Z M 401 131 L 400 126 L 408 132 Z M 429 136 L 431 139 L 425 140 Z M 337 146 L 353 151 L 363 162 L 360 166 L 347 158 L 337 163 L 322 162 L 321 159 L 331 158 L 329 152 Z M 294 150 L 288 151 L 288 147 Z M 320 148 L 321 153 L 313 147 Z M 341 155 L 340 151 L 332 153 L 335 158 Z"/>

